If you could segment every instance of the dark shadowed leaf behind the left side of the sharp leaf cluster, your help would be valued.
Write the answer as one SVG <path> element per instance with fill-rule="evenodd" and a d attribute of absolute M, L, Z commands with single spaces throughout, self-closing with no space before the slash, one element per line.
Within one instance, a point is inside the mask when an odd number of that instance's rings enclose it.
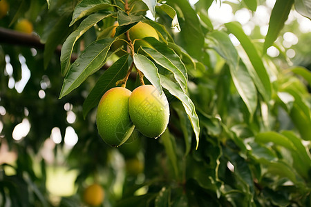
<path fill-rule="evenodd" d="M 71 14 L 71 12 L 66 12 L 57 19 L 57 23 L 53 26 L 50 34 L 48 34 L 48 39 L 44 46 L 44 68 L 48 67 L 48 63 L 53 57 L 57 46 L 70 34 L 71 30 L 68 28 L 68 23 L 70 22 Z"/>

